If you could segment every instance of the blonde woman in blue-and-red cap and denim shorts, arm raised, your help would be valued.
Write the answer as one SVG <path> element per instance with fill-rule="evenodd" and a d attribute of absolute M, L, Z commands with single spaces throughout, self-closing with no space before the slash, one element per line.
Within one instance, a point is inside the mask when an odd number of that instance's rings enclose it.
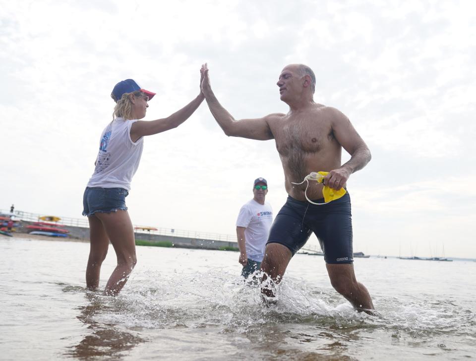
<path fill-rule="evenodd" d="M 203 79 L 203 66 L 200 71 Z M 86 269 L 86 286 L 97 290 L 101 264 L 108 253 L 109 241 L 114 246 L 118 265 L 106 284 L 104 294 L 117 295 L 124 286 L 137 259 L 134 229 L 125 206 L 130 181 L 139 166 L 145 135 L 178 127 L 198 108 L 204 99 L 198 96 L 182 109 L 164 119 L 140 121 L 145 117 L 147 102 L 155 93 L 141 89 L 135 81 L 119 82 L 111 94 L 116 101 L 113 121 L 101 135 L 95 170 L 83 196 L 83 215 L 88 217 L 90 252 Z"/>

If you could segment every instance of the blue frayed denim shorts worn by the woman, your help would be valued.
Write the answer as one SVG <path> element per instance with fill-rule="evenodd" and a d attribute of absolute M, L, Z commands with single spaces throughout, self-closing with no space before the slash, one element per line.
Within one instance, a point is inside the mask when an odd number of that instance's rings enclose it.
<path fill-rule="evenodd" d="M 124 188 L 86 187 L 83 195 L 83 216 L 92 216 L 96 212 L 111 213 L 127 210 L 125 197 L 129 192 Z"/>

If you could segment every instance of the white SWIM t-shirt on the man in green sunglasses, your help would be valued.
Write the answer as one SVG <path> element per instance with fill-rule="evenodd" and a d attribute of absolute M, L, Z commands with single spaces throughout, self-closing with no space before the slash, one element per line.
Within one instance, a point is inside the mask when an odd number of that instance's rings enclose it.
<path fill-rule="evenodd" d="M 239 210 L 237 227 L 244 230 L 246 255 L 250 260 L 261 262 L 273 223 L 273 210 L 268 202 L 259 204 L 251 199 Z"/>

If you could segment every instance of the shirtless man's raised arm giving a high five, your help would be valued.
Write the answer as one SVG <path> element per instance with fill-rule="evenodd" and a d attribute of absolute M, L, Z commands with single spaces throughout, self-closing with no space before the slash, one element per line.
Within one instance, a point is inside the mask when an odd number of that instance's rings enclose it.
<path fill-rule="evenodd" d="M 203 72 L 202 92 L 205 95 L 208 107 L 218 125 L 228 136 L 268 140 L 273 139 L 268 122 L 280 114 L 270 114 L 263 118 L 235 120 L 233 116 L 218 102 L 210 86 L 207 64 L 202 65 Z"/>

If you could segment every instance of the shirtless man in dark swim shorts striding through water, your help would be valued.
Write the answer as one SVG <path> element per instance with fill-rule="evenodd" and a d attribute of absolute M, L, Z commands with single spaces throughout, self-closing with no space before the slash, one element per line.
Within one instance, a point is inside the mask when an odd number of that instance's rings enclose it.
<path fill-rule="evenodd" d="M 218 102 L 210 86 L 208 68 L 202 67 L 202 92 L 216 121 L 228 136 L 276 141 L 283 164 L 288 200 L 271 227 L 261 271 L 265 273 L 261 293 L 268 302 L 293 255 L 311 232 L 319 239 L 332 286 L 359 311 L 373 310 L 364 285 L 357 282 L 353 266 L 352 220 L 349 193 L 325 205 L 309 203 L 305 183 L 311 172 L 329 172 L 324 185 L 339 190 L 350 175 L 370 161 L 370 151 L 349 119 L 339 110 L 315 103 L 315 76 L 302 64 L 291 64 L 281 72 L 278 87 L 281 100 L 289 105 L 287 114 L 273 113 L 263 118 L 235 120 Z M 351 159 L 341 165 L 344 148 Z M 323 185 L 309 181 L 307 196 L 324 203 Z M 271 278 L 271 282 L 267 279 Z M 269 284 L 271 283 L 271 287 Z M 268 284 L 268 285 L 267 285 Z"/>

